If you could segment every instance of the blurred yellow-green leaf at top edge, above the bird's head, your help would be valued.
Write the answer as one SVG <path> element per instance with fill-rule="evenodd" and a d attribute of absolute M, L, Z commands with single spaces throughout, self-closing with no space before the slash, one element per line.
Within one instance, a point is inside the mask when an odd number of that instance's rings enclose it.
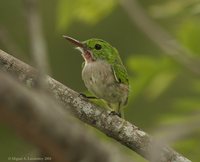
<path fill-rule="evenodd" d="M 67 28 L 73 21 L 96 24 L 110 14 L 116 5 L 115 0 L 59 0 L 57 7 L 57 28 Z"/>

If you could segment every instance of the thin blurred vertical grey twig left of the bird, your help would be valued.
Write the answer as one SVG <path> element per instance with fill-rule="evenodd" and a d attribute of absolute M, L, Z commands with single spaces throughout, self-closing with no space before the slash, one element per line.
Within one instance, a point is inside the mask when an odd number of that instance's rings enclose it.
<path fill-rule="evenodd" d="M 27 26 L 30 37 L 31 55 L 38 73 L 38 86 L 45 87 L 44 74 L 49 72 L 46 40 L 42 30 L 41 16 L 39 15 L 38 0 L 24 0 Z"/>

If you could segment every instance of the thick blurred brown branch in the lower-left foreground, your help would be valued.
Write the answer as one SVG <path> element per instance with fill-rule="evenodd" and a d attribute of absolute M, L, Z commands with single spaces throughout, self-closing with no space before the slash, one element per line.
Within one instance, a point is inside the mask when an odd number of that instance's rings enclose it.
<path fill-rule="evenodd" d="M 130 162 L 113 146 L 100 143 L 45 93 L 27 89 L 2 72 L 0 80 L 0 119 L 39 146 L 48 160 Z"/>

